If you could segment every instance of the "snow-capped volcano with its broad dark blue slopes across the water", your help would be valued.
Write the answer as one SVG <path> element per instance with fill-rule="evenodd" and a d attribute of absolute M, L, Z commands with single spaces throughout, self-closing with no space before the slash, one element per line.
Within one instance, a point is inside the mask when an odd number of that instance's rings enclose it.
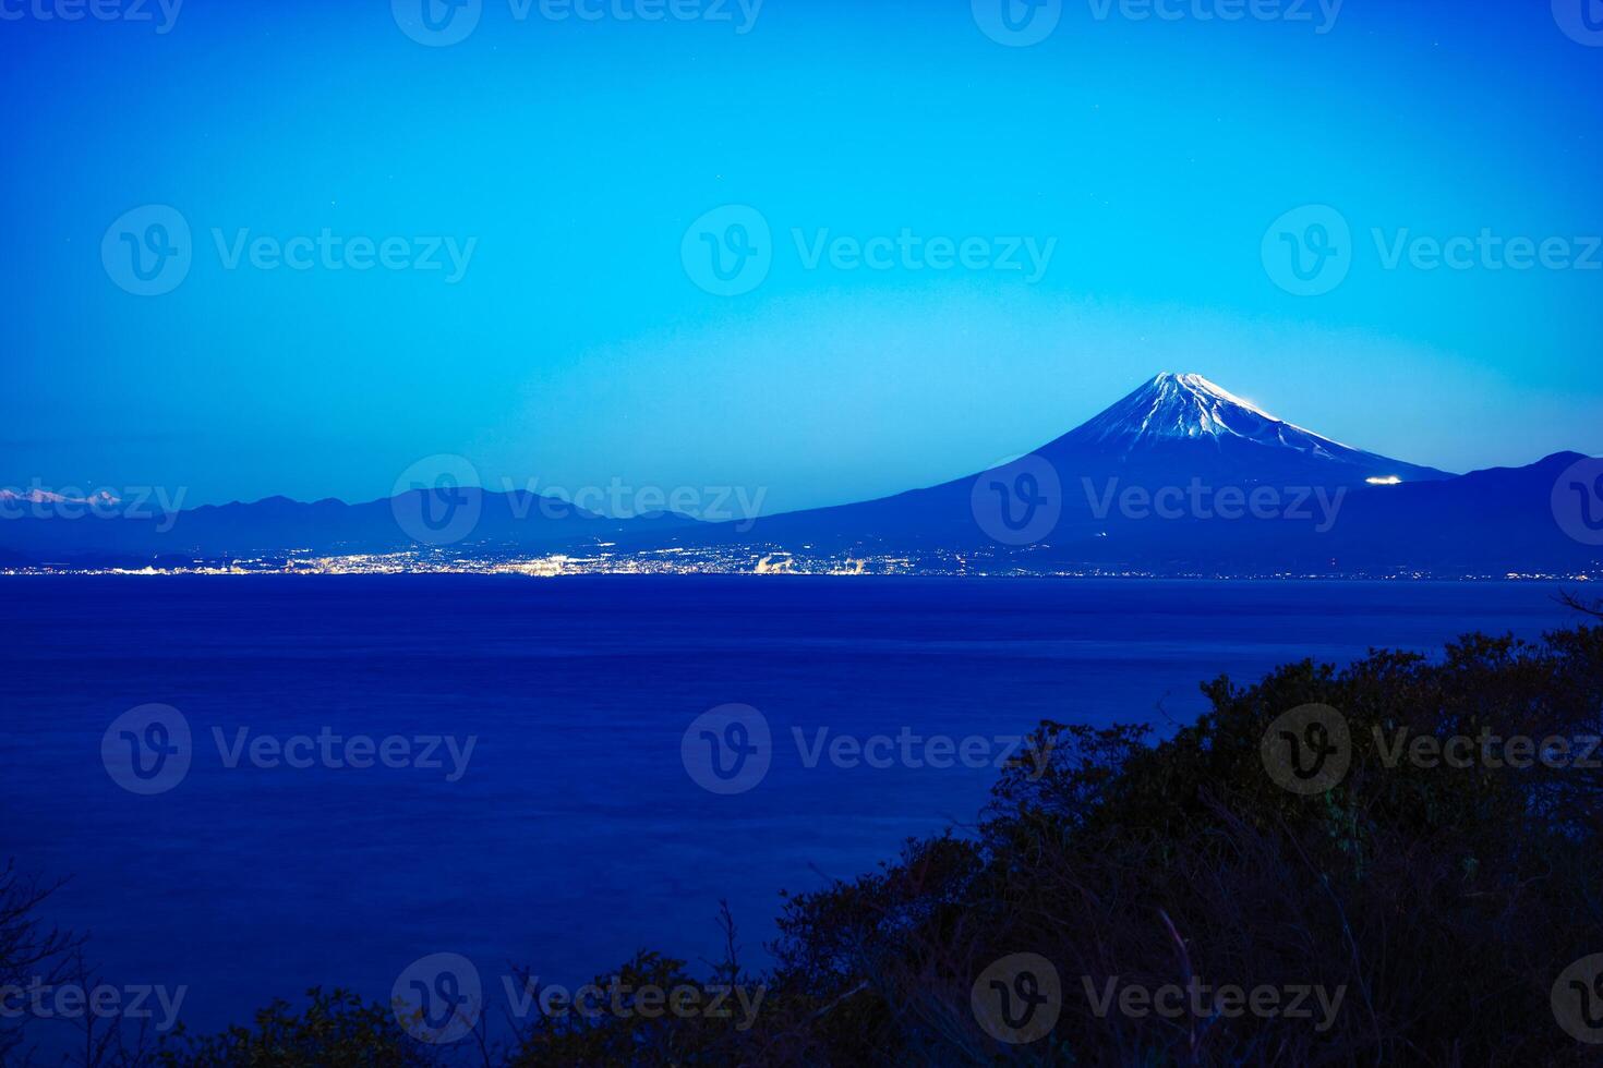
<path fill-rule="evenodd" d="M 681 543 L 904 556 L 984 572 L 1505 575 L 1603 568 L 1555 522 L 1579 453 L 1456 476 L 1343 445 L 1201 375 L 1162 373 L 1106 410 L 963 479 L 773 516 Z"/>

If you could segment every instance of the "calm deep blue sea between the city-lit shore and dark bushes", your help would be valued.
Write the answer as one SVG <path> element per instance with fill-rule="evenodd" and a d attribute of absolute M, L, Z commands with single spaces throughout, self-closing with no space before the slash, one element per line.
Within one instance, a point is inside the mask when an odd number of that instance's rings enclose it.
<path fill-rule="evenodd" d="M 0 581 L 0 857 L 71 876 L 51 921 L 107 980 L 189 988 L 216 1028 L 273 996 L 388 1001 L 452 951 L 579 983 L 640 948 L 717 956 L 728 898 L 763 961 L 779 890 L 971 823 L 991 767 L 806 767 L 793 743 L 1018 735 L 1042 717 L 1173 724 L 1197 684 L 1303 656 L 1536 636 L 1542 584 L 806 578 L 10 578 Z M 167 793 L 101 737 L 165 703 L 194 735 Z M 697 786 L 681 738 L 744 703 L 765 778 Z M 476 738 L 465 773 L 228 767 L 213 743 Z"/>

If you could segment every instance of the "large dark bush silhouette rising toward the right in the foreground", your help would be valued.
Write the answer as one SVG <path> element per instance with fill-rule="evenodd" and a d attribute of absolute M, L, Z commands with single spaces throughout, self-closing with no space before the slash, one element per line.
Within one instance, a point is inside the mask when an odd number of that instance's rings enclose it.
<path fill-rule="evenodd" d="M 850 1012 L 810 1028 L 811 1047 L 858 1041 L 919 1063 L 1529 1065 L 1597 1052 L 1558 1025 L 1550 991 L 1603 951 L 1603 772 L 1387 756 L 1403 727 L 1598 737 L 1603 629 L 1467 637 L 1435 663 L 1303 661 L 1249 689 L 1204 689 L 1212 711 L 1151 748 L 1143 727 L 1044 724 L 1048 773 L 1008 769 L 975 841 L 915 842 L 880 874 L 790 901 L 776 1001 L 822 1004 L 867 983 Z M 1300 796 L 1268 773 L 1262 743 L 1311 703 L 1345 717 L 1350 767 Z M 1015 1046 L 984 1031 L 970 985 L 1018 953 L 1050 961 L 1063 996 L 1050 1036 Z M 1157 988 L 1193 975 L 1345 999 L 1316 1030 L 1250 1014 L 1098 1015 L 1087 994 L 1109 977 Z"/>

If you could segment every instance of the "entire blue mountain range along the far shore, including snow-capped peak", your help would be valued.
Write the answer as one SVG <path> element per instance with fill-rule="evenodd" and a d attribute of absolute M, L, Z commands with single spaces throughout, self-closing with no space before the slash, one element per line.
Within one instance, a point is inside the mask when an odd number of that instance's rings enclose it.
<path fill-rule="evenodd" d="M 1598 463 L 1597 472 L 1587 466 Z M 1576 471 L 1585 468 L 1585 477 Z M 1566 480 L 1569 484 L 1566 484 Z M 1287 423 L 1201 375 L 1162 373 L 1036 452 L 963 479 L 741 522 L 614 519 L 534 493 L 414 488 L 346 504 L 266 498 L 119 519 L 11 517 L 0 564 L 430 551 L 460 557 L 769 551 L 902 557 L 915 570 L 1508 573 L 1603 570 L 1603 461 L 1558 453 L 1454 476 Z M 114 500 L 114 498 L 109 498 Z M 1603 514 L 1603 500 L 1597 501 Z M 1595 536 L 1593 536 L 1595 535 Z"/>

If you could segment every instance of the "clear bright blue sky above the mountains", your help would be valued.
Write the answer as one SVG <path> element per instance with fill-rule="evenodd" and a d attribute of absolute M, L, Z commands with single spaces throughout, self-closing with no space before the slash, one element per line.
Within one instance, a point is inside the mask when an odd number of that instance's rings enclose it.
<path fill-rule="evenodd" d="M 1029 46 L 989 0 L 483 0 L 442 46 L 407 2 L 0 0 L 0 484 L 367 500 L 457 453 L 776 511 L 971 472 L 1161 370 L 1423 464 L 1603 453 L 1603 42 L 1566 0 L 1068 0 Z M 146 205 L 191 245 L 154 296 L 103 256 Z M 723 205 L 768 229 L 736 295 L 697 285 Z M 1298 208 L 1348 227 L 1316 295 L 1273 263 Z M 402 269 L 274 266 L 324 232 Z M 930 256 L 838 240 L 904 232 Z M 1483 232 L 1569 266 L 1417 240 Z"/>

